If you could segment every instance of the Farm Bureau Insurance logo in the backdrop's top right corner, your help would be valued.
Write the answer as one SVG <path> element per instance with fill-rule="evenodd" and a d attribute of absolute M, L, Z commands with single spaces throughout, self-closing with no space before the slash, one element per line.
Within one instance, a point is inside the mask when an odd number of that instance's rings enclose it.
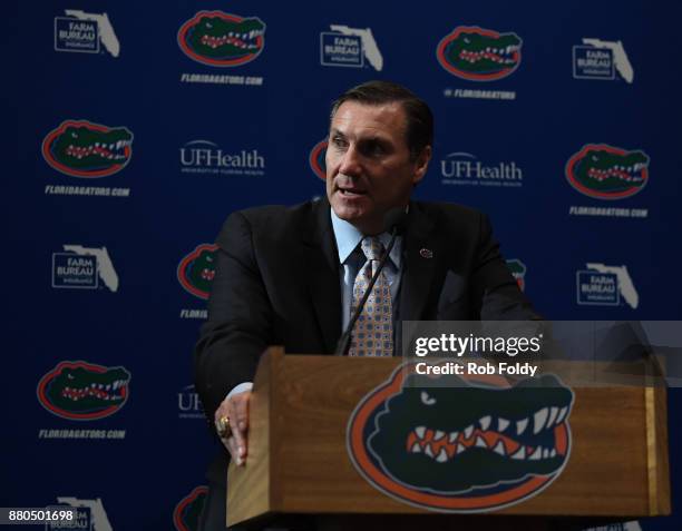
<path fill-rule="evenodd" d="M 615 72 L 627 83 L 634 81 L 634 70 L 623 43 L 601 39 L 583 39 L 573 47 L 574 79 L 614 80 Z"/>

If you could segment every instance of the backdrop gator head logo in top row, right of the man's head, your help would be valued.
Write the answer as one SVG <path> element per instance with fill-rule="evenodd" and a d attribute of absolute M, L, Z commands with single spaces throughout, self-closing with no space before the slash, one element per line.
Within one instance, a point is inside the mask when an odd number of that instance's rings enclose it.
<path fill-rule="evenodd" d="M 520 63 L 523 41 L 516 33 L 498 33 L 478 26 L 459 26 L 436 49 L 440 66 L 470 81 L 495 81 Z"/>

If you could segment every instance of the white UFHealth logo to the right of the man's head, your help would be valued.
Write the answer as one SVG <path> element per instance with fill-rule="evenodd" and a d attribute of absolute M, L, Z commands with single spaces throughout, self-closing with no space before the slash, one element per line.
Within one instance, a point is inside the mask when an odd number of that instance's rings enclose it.
<path fill-rule="evenodd" d="M 440 160 L 441 184 L 468 186 L 519 187 L 524 173 L 514 160 L 486 165 L 476 155 L 464 151 L 450 153 Z"/>

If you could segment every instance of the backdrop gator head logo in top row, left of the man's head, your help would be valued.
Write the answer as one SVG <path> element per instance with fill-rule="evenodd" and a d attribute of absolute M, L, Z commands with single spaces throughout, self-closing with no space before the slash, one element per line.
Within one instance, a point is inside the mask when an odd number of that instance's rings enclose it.
<path fill-rule="evenodd" d="M 265 46 L 265 23 L 223 11 L 199 11 L 177 32 L 183 52 L 211 67 L 238 67 L 253 61 Z"/>

